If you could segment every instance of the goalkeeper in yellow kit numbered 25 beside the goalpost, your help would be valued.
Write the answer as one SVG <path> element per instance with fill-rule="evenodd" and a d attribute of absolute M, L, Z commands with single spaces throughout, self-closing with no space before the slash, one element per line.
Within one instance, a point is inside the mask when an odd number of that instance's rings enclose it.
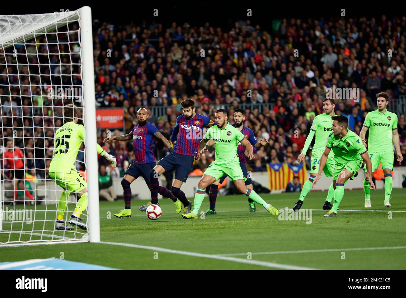
<path fill-rule="evenodd" d="M 78 124 L 78 108 L 74 105 L 65 105 L 63 107 L 63 119 L 65 124 L 55 133 L 54 151 L 49 168 L 49 175 L 55 179 L 56 184 L 64 190 L 58 199 L 58 215 L 56 219 L 56 230 L 69 231 L 73 227 L 66 225 L 63 217 L 67 207 L 67 199 L 73 191 L 80 198 L 76 203 L 76 208 L 68 223 L 76 225 L 81 229 L 87 230 L 87 225 L 80 219 L 80 215 L 87 208 L 87 183 L 82 175 L 76 170 L 75 161 L 80 146 L 85 139 L 86 132 L 84 126 Z M 117 165 L 116 158 L 108 154 L 97 144 L 97 153 L 101 154 L 108 161 L 111 161 L 112 167 Z"/>

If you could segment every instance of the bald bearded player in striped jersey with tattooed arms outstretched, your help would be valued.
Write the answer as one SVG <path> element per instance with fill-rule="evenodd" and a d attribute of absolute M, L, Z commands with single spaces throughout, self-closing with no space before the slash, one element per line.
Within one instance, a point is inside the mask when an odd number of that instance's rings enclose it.
<path fill-rule="evenodd" d="M 155 156 L 152 152 L 152 145 L 154 143 L 154 137 L 160 139 L 164 145 L 171 151 L 172 146 L 169 141 L 158 131 L 158 129 L 147 121 L 149 115 L 145 108 L 140 108 L 137 111 L 138 123 L 127 135 L 120 135 L 115 137 L 106 137 L 103 141 L 127 141 L 133 139 L 134 146 L 134 161 L 125 171 L 123 180 L 121 180 L 121 186 L 123 187 L 125 207 L 119 213 L 114 214 L 117 218 L 131 217 L 131 187 L 130 184 L 136 180 L 139 176 L 142 176 L 147 183 L 148 187 L 151 187 L 149 180 L 149 172 L 155 167 Z M 181 202 L 165 187 L 158 187 L 158 193 L 164 197 L 172 199 L 176 209 L 181 210 Z M 158 202 L 156 202 L 158 203 Z M 155 204 L 156 204 L 155 203 Z"/>

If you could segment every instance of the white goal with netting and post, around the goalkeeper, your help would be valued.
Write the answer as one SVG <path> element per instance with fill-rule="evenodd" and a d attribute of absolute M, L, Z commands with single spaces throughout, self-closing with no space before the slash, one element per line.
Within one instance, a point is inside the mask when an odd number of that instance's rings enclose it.
<path fill-rule="evenodd" d="M 0 247 L 100 241 L 91 26 L 87 6 L 0 15 Z M 55 137 L 68 104 L 86 132 L 71 171 L 88 184 L 87 230 L 69 225 L 78 194 L 49 171 L 55 154 L 80 144 Z M 56 229 L 57 219 L 73 229 Z"/>

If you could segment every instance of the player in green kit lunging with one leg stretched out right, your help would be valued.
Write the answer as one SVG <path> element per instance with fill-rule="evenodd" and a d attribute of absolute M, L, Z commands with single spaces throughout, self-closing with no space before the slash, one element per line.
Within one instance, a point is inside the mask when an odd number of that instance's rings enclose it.
<path fill-rule="evenodd" d="M 194 195 L 193 210 L 188 214 L 182 214 L 185 219 L 197 219 L 200 206 L 205 197 L 206 188 L 220 179 L 222 176 L 227 175 L 234 182 L 235 187 L 244 193 L 247 197 L 252 199 L 255 203 L 263 206 L 268 212 L 273 215 L 278 215 L 278 209 L 274 206 L 267 204 L 253 189 L 249 189 L 245 185 L 245 180 L 237 154 L 238 142 L 245 146 L 248 151 L 248 159 L 252 160 L 253 146 L 248 142 L 244 135 L 234 126 L 231 126 L 227 121 L 227 111 L 225 109 L 218 109 L 214 114 L 214 119 L 217 125 L 210 127 L 205 137 L 200 142 L 199 154 L 203 154 L 207 148 L 205 147 L 209 139 L 214 140 L 214 151 L 216 153 L 216 160 L 203 173 L 203 177 L 199 181 L 199 186 Z"/>

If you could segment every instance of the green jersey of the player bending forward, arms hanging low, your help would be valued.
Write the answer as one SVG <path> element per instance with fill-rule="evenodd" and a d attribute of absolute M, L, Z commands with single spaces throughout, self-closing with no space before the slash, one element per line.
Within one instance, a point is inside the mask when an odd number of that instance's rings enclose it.
<path fill-rule="evenodd" d="M 327 139 L 326 147 L 333 148 L 331 151 L 334 151 L 334 161 L 339 165 L 346 164 L 349 161 L 361 162 L 361 155 L 367 152 L 361 138 L 350 129 L 342 138 L 331 133 Z"/>

